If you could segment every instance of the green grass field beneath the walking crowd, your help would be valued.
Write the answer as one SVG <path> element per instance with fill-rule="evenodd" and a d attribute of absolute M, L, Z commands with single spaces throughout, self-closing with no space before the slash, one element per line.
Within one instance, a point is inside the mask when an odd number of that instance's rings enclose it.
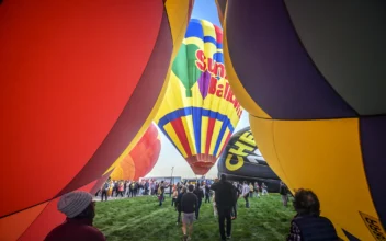
<path fill-rule="evenodd" d="M 295 213 L 292 207 L 282 206 L 280 195 L 250 198 L 250 206 L 247 209 L 245 200 L 238 200 L 238 218 L 232 221 L 231 240 L 285 240 Z M 175 221 L 177 211 L 171 207 L 171 198 L 167 197 L 163 206 L 159 207 L 157 197 L 146 196 L 99 202 L 94 226 L 109 241 L 180 241 L 181 226 L 177 226 Z M 212 203 L 202 205 L 192 240 L 220 240 Z"/>

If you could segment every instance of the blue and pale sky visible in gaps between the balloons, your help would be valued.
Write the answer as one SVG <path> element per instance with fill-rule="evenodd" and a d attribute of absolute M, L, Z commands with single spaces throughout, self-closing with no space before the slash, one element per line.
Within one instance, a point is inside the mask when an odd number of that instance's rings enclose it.
<path fill-rule="evenodd" d="M 192 19 L 207 20 L 217 26 L 220 26 L 217 7 L 215 0 L 195 0 L 192 12 Z M 249 126 L 248 113 L 243 111 L 240 122 L 234 133 Z M 194 172 L 185 159 L 180 154 L 170 140 L 158 129 L 161 136 L 161 153 L 157 164 L 147 176 L 170 176 L 171 169 L 174 167 L 173 176 L 195 177 Z M 217 176 L 217 163 L 206 174 L 207 177 Z"/>

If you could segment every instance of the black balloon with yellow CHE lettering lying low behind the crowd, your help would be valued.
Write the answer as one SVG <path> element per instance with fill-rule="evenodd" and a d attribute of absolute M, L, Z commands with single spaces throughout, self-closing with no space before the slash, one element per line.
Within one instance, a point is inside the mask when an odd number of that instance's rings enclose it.
<path fill-rule="evenodd" d="M 246 127 L 231 137 L 217 162 L 218 174 L 228 180 L 264 182 L 270 192 L 279 192 L 280 179 L 268 165 L 256 146 L 250 127 Z"/>

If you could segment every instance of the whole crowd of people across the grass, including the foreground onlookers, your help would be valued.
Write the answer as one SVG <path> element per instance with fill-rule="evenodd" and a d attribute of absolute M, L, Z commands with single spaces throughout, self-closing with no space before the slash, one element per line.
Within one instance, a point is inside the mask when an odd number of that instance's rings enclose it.
<path fill-rule="evenodd" d="M 262 195 L 269 195 L 264 183 L 259 186 L 258 183 L 243 182 L 230 183 L 226 175 L 215 180 L 213 184 L 196 183 L 177 183 L 175 185 L 166 182 L 114 182 L 109 180 L 103 184 L 99 193 L 102 199 L 105 196 L 136 196 L 136 195 L 156 195 L 159 205 L 162 206 L 164 200 L 164 191 L 170 188 L 172 197 L 171 205 L 178 213 L 177 223 L 182 222 L 183 240 L 191 239 L 193 233 L 193 223 L 200 218 L 200 208 L 203 199 L 205 203 L 213 203 L 214 216 L 218 219 L 219 236 L 222 240 L 231 238 L 231 222 L 237 218 L 237 202 L 242 197 L 246 202 L 246 208 L 250 208 L 249 198 L 259 198 Z M 288 194 L 284 183 L 281 183 L 280 194 L 282 195 L 283 205 L 286 207 Z M 98 193 L 96 193 L 98 195 Z M 304 240 L 339 240 L 331 221 L 320 216 L 319 199 L 313 191 L 298 190 L 294 195 L 294 208 L 296 215 L 291 221 L 291 230 L 287 237 L 288 241 Z M 45 239 L 52 240 L 105 240 L 103 233 L 92 227 L 95 216 L 94 202 L 91 194 L 86 192 L 72 192 L 64 195 L 58 203 L 58 210 L 67 216 L 66 222 L 55 228 Z"/>

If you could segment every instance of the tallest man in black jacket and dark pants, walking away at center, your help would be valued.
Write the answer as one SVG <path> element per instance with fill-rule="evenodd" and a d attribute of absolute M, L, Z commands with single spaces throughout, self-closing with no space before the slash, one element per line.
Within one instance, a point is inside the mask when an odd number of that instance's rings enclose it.
<path fill-rule="evenodd" d="M 227 181 L 225 174 L 222 174 L 220 181 L 214 183 L 211 190 L 215 191 L 215 200 L 218 211 L 218 227 L 222 240 L 230 238 L 231 232 L 231 218 L 230 213 L 236 204 L 236 188 Z M 225 220 L 227 220 L 227 237 L 225 237 Z"/>

